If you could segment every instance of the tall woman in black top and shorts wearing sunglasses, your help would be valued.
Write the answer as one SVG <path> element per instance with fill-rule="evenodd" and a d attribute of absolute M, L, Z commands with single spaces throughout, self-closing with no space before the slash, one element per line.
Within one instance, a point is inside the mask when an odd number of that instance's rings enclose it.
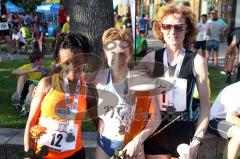
<path fill-rule="evenodd" d="M 190 144 L 190 158 L 196 159 L 208 126 L 210 104 L 206 61 L 184 49 L 198 33 L 195 16 L 189 7 L 167 4 L 159 8 L 155 19 L 153 31 L 166 47 L 146 55 L 141 67 L 153 77 L 171 81 L 174 87 L 158 95 L 162 121 L 144 143 L 146 158 L 176 158 L 177 146 L 186 143 Z M 192 104 L 195 84 L 201 103 L 199 114 Z"/>

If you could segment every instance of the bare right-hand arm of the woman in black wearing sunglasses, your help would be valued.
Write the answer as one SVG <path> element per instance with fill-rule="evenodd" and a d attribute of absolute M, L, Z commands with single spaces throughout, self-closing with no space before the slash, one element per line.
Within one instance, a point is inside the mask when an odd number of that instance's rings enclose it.
<path fill-rule="evenodd" d="M 197 88 L 200 97 L 200 114 L 197 122 L 196 132 L 194 136 L 203 138 L 208 127 L 210 116 L 210 101 L 208 90 L 208 69 L 206 61 L 200 55 L 196 55 L 194 59 L 194 74 L 197 78 Z"/>

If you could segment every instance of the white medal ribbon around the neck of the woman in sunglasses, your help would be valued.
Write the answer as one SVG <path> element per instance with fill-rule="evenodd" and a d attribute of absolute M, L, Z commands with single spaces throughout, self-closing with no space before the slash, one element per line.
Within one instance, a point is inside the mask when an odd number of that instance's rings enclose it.
<path fill-rule="evenodd" d="M 184 52 L 185 52 L 185 50 L 182 49 L 182 52 L 177 57 L 177 67 L 176 67 L 176 70 L 174 72 L 173 78 L 171 78 L 169 76 L 167 51 L 165 50 L 164 54 L 163 54 L 163 64 L 166 67 L 166 70 L 164 69 L 164 77 L 165 78 L 169 78 L 173 82 L 173 88 L 168 91 L 168 97 L 169 97 L 168 99 L 169 99 L 169 103 L 171 103 L 171 104 L 174 104 L 174 99 L 175 99 L 175 92 L 174 92 L 175 82 L 176 82 L 176 78 L 179 76 L 180 69 L 182 67 L 182 62 L 183 62 L 183 58 L 184 58 L 184 55 L 185 55 Z"/>

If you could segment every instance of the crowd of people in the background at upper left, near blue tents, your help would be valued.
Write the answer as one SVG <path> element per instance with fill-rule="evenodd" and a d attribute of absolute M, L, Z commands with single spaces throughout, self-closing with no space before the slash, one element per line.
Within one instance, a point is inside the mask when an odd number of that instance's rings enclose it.
<path fill-rule="evenodd" d="M 39 13 L 8 13 L 1 2 L 0 22 L 6 22 L 8 29 L 0 31 L 0 43 L 6 43 L 9 53 L 27 51 L 28 40 L 31 39 L 31 50 L 43 52 L 45 37 L 55 37 L 61 32 L 70 32 L 68 12 L 61 5 L 58 20 L 46 21 Z"/>

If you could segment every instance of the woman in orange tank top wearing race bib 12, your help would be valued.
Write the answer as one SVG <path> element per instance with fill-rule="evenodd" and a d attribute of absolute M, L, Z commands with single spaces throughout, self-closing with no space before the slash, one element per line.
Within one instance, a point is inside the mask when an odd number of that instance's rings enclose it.
<path fill-rule="evenodd" d="M 32 148 L 30 130 L 35 125 L 47 129 L 37 143 L 49 147 L 45 158 L 79 158 L 85 153 L 81 137 L 85 118 L 86 82 L 83 79 L 82 56 L 90 52 L 88 39 L 78 33 L 61 33 L 52 43 L 54 60 L 61 66 L 60 73 L 39 82 L 31 103 L 24 148 Z"/>

